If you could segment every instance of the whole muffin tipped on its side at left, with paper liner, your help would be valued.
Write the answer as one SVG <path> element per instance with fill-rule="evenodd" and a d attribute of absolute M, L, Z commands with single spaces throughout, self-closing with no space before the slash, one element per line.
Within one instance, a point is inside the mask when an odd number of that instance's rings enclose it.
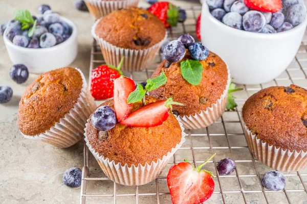
<path fill-rule="evenodd" d="M 94 109 L 82 72 L 71 67 L 55 69 L 27 87 L 19 102 L 18 127 L 26 138 L 65 148 L 82 138 Z"/>

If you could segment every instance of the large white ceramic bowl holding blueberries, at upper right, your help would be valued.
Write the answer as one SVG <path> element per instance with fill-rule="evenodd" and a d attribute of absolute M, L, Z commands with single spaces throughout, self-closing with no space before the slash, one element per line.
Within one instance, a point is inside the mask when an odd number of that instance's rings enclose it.
<path fill-rule="evenodd" d="M 307 17 L 295 28 L 274 34 L 237 30 L 216 20 L 203 4 L 202 43 L 228 65 L 233 82 L 260 84 L 278 77 L 289 66 L 300 46 Z"/>

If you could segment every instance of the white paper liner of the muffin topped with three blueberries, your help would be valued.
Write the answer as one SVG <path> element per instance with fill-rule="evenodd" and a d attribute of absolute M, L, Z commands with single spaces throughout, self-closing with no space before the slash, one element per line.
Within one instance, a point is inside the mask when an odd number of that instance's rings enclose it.
<path fill-rule="evenodd" d="M 194 115 L 184 115 L 179 116 L 179 121 L 182 122 L 183 126 L 186 129 L 197 130 L 203 129 L 213 122 L 215 122 L 218 118 L 220 118 L 225 112 L 228 98 L 228 89 L 230 85 L 230 72 L 228 70 L 228 80 L 226 88 L 221 95 L 220 98 L 217 99 L 216 103 L 212 104 L 211 107 L 208 107 L 206 110 L 201 111 L 200 113 L 194 113 Z"/>

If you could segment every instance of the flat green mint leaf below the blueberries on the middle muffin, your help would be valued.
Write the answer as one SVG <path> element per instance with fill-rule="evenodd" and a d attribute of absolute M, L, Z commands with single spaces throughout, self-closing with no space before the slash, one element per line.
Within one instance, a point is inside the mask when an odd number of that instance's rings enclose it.
<path fill-rule="evenodd" d="M 182 77 L 191 85 L 200 85 L 203 77 L 203 65 L 198 60 L 185 60 L 180 63 Z"/>

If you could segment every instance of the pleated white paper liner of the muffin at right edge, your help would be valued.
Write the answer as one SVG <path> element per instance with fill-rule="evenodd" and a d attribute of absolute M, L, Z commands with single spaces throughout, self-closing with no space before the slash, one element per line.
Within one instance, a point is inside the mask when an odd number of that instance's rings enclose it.
<path fill-rule="evenodd" d="M 278 171 L 286 172 L 299 171 L 307 167 L 307 152 L 291 151 L 270 145 L 252 134 L 244 121 L 243 124 L 248 147 L 259 162 Z"/>

